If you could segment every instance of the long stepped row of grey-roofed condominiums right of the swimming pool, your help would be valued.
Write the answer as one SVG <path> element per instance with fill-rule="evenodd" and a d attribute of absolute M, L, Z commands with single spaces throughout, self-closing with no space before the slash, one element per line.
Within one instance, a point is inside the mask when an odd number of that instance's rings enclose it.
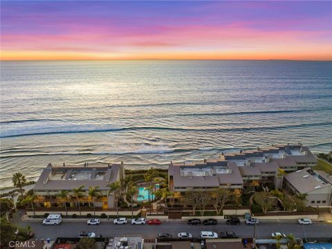
<path fill-rule="evenodd" d="M 282 187 L 279 169 L 294 172 L 317 165 L 317 159 L 302 145 L 273 145 L 197 163 L 170 163 L 169 190 L 187 192 L 219 187 L 240 192 L 242 188 L 273 184 Z"/>

